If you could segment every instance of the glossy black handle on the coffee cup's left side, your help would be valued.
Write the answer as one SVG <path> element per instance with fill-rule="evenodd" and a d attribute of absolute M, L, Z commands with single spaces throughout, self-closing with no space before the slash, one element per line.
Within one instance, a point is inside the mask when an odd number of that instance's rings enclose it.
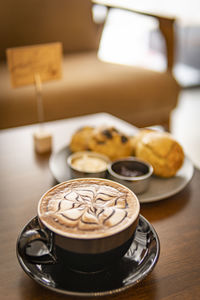
<path fill-rule="evenodd" d="M 34 242 L 36 241 L 41 242 L 41 247 L 34 253 Z M 33 264 L 54 264 L 57 261 L 53 247 L 53 234 L 47 233 L 41 228 L 23 232 L 17 247 L 20 256 Z M 33 248 L 32 251 L 28 251 L 30 248 Z"/>

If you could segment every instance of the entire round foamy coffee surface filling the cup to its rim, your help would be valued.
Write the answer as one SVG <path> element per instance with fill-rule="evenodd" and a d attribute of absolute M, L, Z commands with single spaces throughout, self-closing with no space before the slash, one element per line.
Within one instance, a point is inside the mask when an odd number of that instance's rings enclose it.
<path fill-rule="evenodd" d="M 138 205 L 130 190 L 99 179 L 60 184 L 47 192 L 39 205 L 39 217 L 47 227 L 72 237 L 110 235 L 128 226 L 135 214 Z"/>

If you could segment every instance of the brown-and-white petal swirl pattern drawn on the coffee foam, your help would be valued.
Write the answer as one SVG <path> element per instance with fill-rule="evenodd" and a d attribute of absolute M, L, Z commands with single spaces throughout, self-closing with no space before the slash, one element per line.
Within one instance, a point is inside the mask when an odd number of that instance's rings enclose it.
<path fill-rule="evenodd" d="M 127 190 L 106 184 L 82 182 L 50 192 L 41 203 L 41 218 L 76 234 L 104 232 L 129 218 Z"/>

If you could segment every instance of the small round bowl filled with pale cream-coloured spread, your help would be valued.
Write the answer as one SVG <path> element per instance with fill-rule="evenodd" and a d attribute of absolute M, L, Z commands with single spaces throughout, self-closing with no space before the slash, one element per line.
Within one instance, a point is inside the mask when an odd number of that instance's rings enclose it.
<path fill-rule="evenodd" d="M 79 160 L 79 165 L 77 165 L 78 160 Z M 101 165 L 101 161 L 102 161 L 102 165 Z M 102 155 L 100 153 L 91 152 L 91 151 L 80 151 L 71 154 L 67 159 L 67 163 L 68 166 L 70 167 L 72 178 L 80 178 L 80 177 L 106 178 L 107 167 L 108 164 L 110 163 L 110 160 L 107 156 Z"/>

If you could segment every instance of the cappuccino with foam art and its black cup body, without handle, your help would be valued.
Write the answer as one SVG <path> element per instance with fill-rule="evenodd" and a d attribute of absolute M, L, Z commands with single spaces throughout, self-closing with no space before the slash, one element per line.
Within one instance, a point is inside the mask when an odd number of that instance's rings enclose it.
<path fill-rule="evenodd" d="M 123 256 L 131 245 L 140 205 L 127 187 L 106 179 L 79 178 L 58 184 L 38 204 L 44 231 L 67 266 L 101 269 Z"/>

